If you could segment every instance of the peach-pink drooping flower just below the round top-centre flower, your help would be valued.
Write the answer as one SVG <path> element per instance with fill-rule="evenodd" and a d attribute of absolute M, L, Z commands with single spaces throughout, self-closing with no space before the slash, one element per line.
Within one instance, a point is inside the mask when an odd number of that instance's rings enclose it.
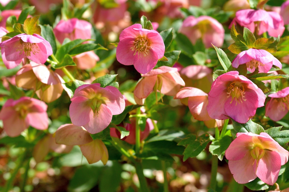
<path fill-rule="evenodd" d="M 146 98 L 153 90 L 175 96 L 181 86 L 185 86 L 185 82 L 180 77 L 178 69 L 161 66 L 143 74 L 133 93 L 139 99 Z"/>

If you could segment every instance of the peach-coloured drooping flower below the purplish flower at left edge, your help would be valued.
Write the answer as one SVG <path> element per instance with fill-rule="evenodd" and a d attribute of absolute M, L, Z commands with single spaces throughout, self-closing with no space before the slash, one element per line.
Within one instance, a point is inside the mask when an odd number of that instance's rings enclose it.
<path fill-rule="evenodd" d="M 33 61 L 17 72 L 15 81 L 18 87 L 34 89 L 38 98 L 47 103 L 61 96 L 64 83 L 64 80 L 46 65 Z"/>

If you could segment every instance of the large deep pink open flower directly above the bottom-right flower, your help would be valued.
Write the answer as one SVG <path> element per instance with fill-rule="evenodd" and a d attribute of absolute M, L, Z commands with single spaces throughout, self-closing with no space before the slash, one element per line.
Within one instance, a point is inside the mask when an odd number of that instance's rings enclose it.
<path fill-rule="evenodd" d="M 213 119 L 228 119 L 246 123 L 264 106 L 265 95 L 260 88 L 238 71 L 224 73 L 213 82 L 208 94 L 207 110 Z"/>

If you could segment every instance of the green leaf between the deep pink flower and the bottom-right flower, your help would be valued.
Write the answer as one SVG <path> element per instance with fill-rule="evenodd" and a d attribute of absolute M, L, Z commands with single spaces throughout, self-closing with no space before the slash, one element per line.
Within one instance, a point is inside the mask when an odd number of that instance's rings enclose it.
<path fill-rule="evenodd" d="M 265 132 L 264 128 L 261 125 L 253 122 L 251 119 L 249 119 L 247 123 L 238 123 L 234 121 L 233 119 L 231 120 L 232 120 L 233 128 L 234 128 L 231 130 L 231 134 L 234 139 L 237 137 L 236 136 L 237 133 L 252 132 L 255 134 L 260 134 L 261 132 Z"/>

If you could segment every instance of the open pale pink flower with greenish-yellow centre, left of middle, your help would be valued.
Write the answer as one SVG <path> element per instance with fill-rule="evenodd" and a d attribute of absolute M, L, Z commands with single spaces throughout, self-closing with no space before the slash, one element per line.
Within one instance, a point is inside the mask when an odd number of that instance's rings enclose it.
<path fill-rule="evenodd" d="M 121 114 L 125 101 L 116 87 L 100 87 L 99 83 L 81 85 L 71 98 L 69 114 L 71 122 L 83 126 L 89 133 L 104 130 L 112 115 Z"/>

